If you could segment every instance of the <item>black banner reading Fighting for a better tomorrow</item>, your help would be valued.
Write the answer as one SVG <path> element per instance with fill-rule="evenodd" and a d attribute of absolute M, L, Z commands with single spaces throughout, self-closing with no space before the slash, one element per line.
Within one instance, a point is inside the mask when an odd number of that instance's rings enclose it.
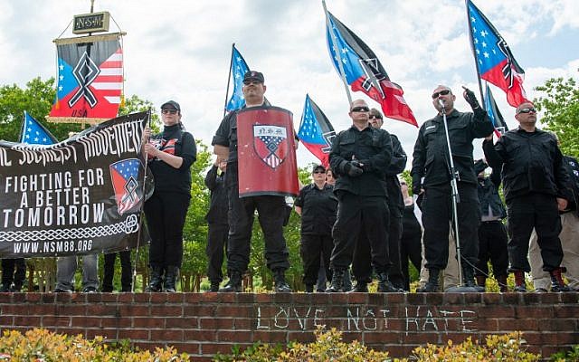
<path fill-rule="evenodd" d="M 110 119 L 48 146 L 0 141 L 0 258 L 135 247 L 147 120 L 146 112 Z"/>

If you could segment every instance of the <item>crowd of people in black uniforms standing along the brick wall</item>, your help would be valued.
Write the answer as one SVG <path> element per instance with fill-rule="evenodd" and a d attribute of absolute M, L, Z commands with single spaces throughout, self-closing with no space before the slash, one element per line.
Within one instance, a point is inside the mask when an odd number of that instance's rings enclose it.
<path fill-rule="evenodd" d="M 248 71 L 242 89 L 245 108 L 271 107 L 265 90 L 263 74 Z M 367 292 L 373 279 L 378 292 L 410 291 L 410 262 L 422 268 L 418 292 L 444 291 L 451 284 L 485 291 L 489 262 L 501 292 L 508 291 L 508 273 L 514 274 L 515 291 L 527 291 L 525 272 L 531 272 L 537 292 L 579 289 L 579 248 L 574 242 L 579 232 L 579 163 L 562 155 L 554 134 L 536 128 L 532 103 L 517 107 L 518 128 L 494 142 L 492 124 L 474 93 L 465 89 L 463 97 L 471 111 L 454 108 L 456 96 L 449 87 L 433 90 L 436 115 L 419 130 L 412 185 L 399 178 L 406 153 L 384 129 L 381 112 L 365 100 L 351 103 L 347 114 L 352 126 L 333 139 L 328 167 L 312 168 L 312 183 L 301 187 L 294 203 L 301 217 L 299 252 L 306 292 Z M 146 291 L 175 292 L 196 148 L 176 101 L 164 103 L 161 115 L 162 132 L 144 133 L 147 167 L 155 176 L 155 192 L 145 204 L 151 234 Z M 486 161 L 473 159 L 474 138 L 485 138 Z M 223 118 L 212 145 L 216 160 L 205 176 L 211 191 L 206 214 L 209 291 L 242 291 L 256 212 L 274 289 L 291 291 L 285 279 L 285 197 L 239 195 L 243 170 L 238 163 L 237 111 Z M 460 245 L 457 252 L 455 245 Z M 130 252 L 119 256 L 121 291 L 131 291 Z M 83 291 L 97 291 L 96 258 L 82 259 Z M 113 290 L 115 259 L 115 253 L 105 255 L 102 291 Z M 227 283 L 222 286 L 224 261 Z M 24 268 L 22 259 L 3 260 L 0 291 L 20 291 Z M 55 291 L 73 291 L 76 268 L 77 257 L 59 258 Z"/>

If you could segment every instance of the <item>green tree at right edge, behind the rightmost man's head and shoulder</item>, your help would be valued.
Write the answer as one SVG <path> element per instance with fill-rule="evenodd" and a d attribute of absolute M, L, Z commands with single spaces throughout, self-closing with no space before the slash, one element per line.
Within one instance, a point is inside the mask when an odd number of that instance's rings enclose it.
<path fill-rule="evenodd" d="M 545 111 L 541 121 L 557 135 L 561 151 L 579 157 L 579 86 L 573 78 L 552 78 L 536 87 L 542 92 L 534 100 L 538 110 Z"/>

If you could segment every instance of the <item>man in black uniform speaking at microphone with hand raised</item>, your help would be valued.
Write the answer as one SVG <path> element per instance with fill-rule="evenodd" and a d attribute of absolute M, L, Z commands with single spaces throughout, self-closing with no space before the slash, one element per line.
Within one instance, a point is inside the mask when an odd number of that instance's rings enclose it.
<path fill-rule="evenodd" d="M 465 286 L 475 286 L 473 267 L 479 254 L 477 232 L 480 211 L 477 176 L 473 169 L 472 140 L 489 136 L 493 127 L 474 93 L 465 89 L 463 96 L 470 104 L 472 113 L 455 110 L 456 96 L 449 87 L 439 85 L 432 92 L 432 105 L 438 114 L 422 124 L 414 145 L 411 171 L 413 194 L 424 194 L 423 243 L 426 268 L 429 271 L 428 282 L 418 291 L 438 291 L 439 272 L 446 268 L 449 255 L 449 221 L 452 218 L 451 167 L 442 112 L 446 114 L 452 160 L 459 174 L 458 221 L 462 275 Z"/>

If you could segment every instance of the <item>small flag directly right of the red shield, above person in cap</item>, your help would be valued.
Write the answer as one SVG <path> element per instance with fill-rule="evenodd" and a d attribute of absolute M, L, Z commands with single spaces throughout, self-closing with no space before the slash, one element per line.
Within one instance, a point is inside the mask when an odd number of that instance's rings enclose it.
<path fill-rule="evenodd" d="M 301 115 L 298 138 L 324 167 L 329 166 L 329 151 L 336 137 L 334 127 L 318 105 L 306 94 L 306 103 Z"/>

